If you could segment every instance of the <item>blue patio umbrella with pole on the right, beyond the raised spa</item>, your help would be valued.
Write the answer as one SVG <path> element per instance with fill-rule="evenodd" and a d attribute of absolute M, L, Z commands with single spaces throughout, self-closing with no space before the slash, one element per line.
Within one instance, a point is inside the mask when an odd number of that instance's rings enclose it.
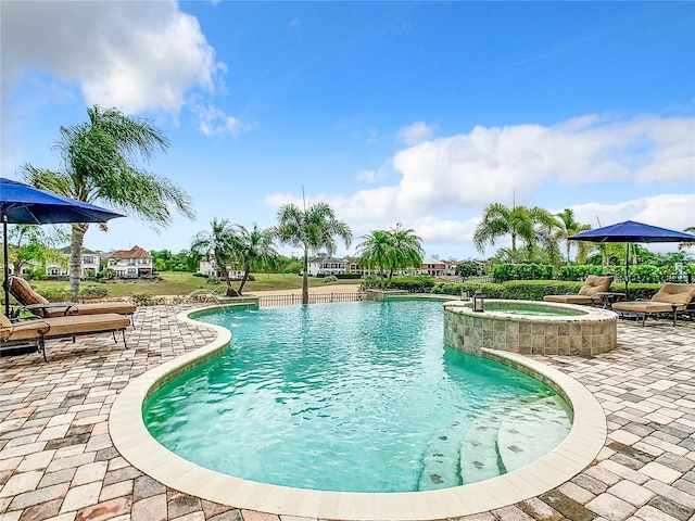
<path fill-rule="evenodd" d="M 635 223 L 634 220 L 626 220 L 617 225 L 604 226 L 595 230 L 587 230 L 568 237 L 570 241 L 589 241 L 589 242 L 624 242 L 626 249 L 626 294 L 628 293 L 628 272 L 630 269 L 630 243 L 633 242 L 695 242 L 695 236 L 684 233 L 682 231 L 659 228 L 658 226 Z"/>

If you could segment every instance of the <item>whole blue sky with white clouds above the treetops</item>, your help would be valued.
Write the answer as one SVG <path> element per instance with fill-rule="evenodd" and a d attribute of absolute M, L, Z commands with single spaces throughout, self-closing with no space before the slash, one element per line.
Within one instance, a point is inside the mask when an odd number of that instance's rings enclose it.
<path fill-rule="evenodd" d="M 490 256 L 505 241 L 480 254 L 473 230 L 515 201 L 594 227 L 695 226 L 694 2 L 0 10 L 3 177 L 59 168 L 60 127 L 97 103 L 172 141 L 148 168 L 191 195 L 197 220 L 116 219 L 88 231 L 93 250 L 176 252 L 213 217 L 271 226 L 302 187 L 352 227 L 339 254 L 403 223 L 428 256 Z"/>

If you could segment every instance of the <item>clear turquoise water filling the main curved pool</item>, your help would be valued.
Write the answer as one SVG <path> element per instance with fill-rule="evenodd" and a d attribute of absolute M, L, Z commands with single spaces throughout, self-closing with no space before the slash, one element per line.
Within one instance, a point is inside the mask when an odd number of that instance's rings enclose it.
<path fill-rule="evenodd" d="M 159 389 L 143 418 L 164 446 L 226 474 L 321 491 L 457 486 L 526 465 L 525 441 L 539 457 L 571 427 L 540 381 L 445 346 L 440 302 L 199 319 L 229 328 L 230 347 Z"/>

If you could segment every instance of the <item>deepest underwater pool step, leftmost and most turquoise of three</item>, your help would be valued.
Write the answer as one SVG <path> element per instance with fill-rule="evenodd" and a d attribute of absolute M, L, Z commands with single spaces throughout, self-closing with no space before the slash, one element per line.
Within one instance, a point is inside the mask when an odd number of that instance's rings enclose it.
<path fill-rule="evenodd" d="M 433 491 L 462 484 L 458 467 L 460 439 L 465 425 L 455 421 L 432 436 L 422 455 L 418 491 Z"/>

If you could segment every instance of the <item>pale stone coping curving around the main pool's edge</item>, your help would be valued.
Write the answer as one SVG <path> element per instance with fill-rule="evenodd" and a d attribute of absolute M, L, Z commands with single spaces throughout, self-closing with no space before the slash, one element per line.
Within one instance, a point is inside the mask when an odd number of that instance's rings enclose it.
<path fill-rule="evenodd" d="M 190 318 L 203 310 L 184 312 Z M 483 350 L 485 357 L 529 372 L 559 391 L 571 405 L 574 421 L 568 436 L 551 453 L 518 470 L 491 480 L 452 488 L 416 493 L 342 493 L 291 488 L 229 476 L 199 467 L 160 445 L 142 420 L 142 404 L 159 386 L 226 348 L 231 333 L 167 361 L 130 382 L 113 403 L 109 431 L 122 456 L 146 474 L 180 492 L 211 501 L 275 514 L 344 520 L 431 520 L 472 514 L 538 496 L 587 467 L 603 448 L 607 428 L 604 411 L 581 383 L 536 360 Z"/>

